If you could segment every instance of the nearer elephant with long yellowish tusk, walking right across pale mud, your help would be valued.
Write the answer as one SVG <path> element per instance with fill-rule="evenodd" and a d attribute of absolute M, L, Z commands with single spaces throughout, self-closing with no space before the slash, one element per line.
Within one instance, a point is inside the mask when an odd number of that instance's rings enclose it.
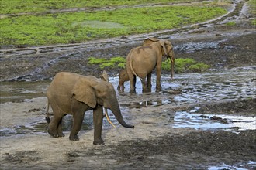
<path fill-rule="evenodd" d="M 57 138 L 64 137 L 62 132 L 62 118 L 72 114 L 73 125 L 69 139 L 78 141 L 78 132 L 85 116 L 85 111 L 93 110 L 94 145 L 104 145 L 102 140 L 103 108 L 110 109 L 119 124 L 125 128 L 134 128 L 123 120 L 116 91 L 109 83 L 107 74 L 103 73 L 104 80 L 95 76 L 82 76 L 76 73 L 60 72 L 54 76 L 47 89 L 47 122 L 48 133 Z M 49 105 L 54 112 L 50 120 Z M 107 116 L 107 112 L 106 112 Z"/>

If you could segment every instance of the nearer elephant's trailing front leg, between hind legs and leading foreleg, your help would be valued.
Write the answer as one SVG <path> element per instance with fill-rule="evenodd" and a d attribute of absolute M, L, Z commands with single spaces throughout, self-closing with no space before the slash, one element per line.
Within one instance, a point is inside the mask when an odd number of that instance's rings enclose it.
<path fill-rule="evenodd" d="M 69 135 L 69 139 L 71 141 L 78 141 L 78 132 L 81 130 L 81 124 L 83 123 L 86 111 L 86 105 L 75 100 L 71 99 L 71 111 L 73 114 L 73 125 L 71 129 L 71 134 Z"/>

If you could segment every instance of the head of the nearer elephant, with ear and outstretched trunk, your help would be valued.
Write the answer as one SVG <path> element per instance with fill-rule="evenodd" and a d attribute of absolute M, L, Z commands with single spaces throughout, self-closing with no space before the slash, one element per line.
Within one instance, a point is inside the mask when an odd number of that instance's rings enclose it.
<path fill-rule="evenodd" d="M 88 104 L 92 108 L 95 108 L 99 104 L 106 109 L 110 109 L 119 124 L 125 128 L 134 128 L 133 125 L 126 124 L 123 120 L 116 98 L 116 91 L 112 83 L 109 83 L 108 80 L 108 76 L 104 76 L 104 74 L 103 80 L 99 80 L 94 76 L 81 76 L 72 90 L 74 98 Z"/>

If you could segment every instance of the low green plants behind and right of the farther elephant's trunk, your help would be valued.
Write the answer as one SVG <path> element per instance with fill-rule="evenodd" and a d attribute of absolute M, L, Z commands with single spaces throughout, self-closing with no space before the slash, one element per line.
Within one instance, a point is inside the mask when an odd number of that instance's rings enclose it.
<path fill-rule="evenodd" d="M 165 60 L 162 63 L 163 70 L 170 70 L 170 60 Z M 175 59 L 175 73 L 185 72 L 202 72 L 209 69 L 209 65 L 199 62 L 197 63 L 194 59 Z"/>

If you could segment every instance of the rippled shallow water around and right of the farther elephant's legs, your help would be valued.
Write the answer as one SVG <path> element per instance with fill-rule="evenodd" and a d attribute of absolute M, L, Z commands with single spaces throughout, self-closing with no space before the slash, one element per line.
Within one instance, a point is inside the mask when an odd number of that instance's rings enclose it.
<path fill-rule="evenodd" d="M 212 70 L 207 73 L 175 74 L 175 80 L 170 82 L 170 76 L 161 76 L 162 90 L 160 93 L 168 95 L 180 90 L 171 102 L 175 104 L 198 103 L 201 101 L 232 100 L 256 97 L 256 67 L 243 67 L 230 70 Z M 156 77 L 152 77 L 152 92 L 155 90 Z M 118 78 L 110 81 L 116 87 Z M 125 93 L 129 92 L 130 84 L 125 83 Z M 137 94 L 141 94 L 142 87 L 137 79 Z M 165 100 L 162 103 L 168 102 Z"/>

